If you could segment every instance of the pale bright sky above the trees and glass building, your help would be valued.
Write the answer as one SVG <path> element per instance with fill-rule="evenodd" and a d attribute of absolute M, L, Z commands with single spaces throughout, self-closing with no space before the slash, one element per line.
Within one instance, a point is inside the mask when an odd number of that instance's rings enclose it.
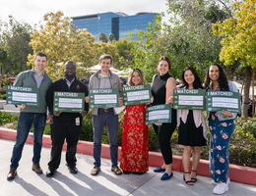
<path fill-rule="evenodd" d="M 104 12 L 135 15 L 140 12 L 164 12 L 167 0 L 1 0 L 0 21 L 13 16 L 30 25 L 43 21 L 43 15 L 62 11 L 65 17 L 77 17 Z"/>

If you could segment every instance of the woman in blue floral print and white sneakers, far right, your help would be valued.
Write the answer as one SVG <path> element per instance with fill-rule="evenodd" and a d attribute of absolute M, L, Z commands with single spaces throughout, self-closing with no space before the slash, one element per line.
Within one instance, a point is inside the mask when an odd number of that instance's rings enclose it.
<path fill-rule="evenodd" d="M 238 92 L 236 86 L 227 81 L 223 68 L 213 64 L 205 78 L 206 90 Z M 216 187 L 215 194 L 228 191 L 229 141 L 235 128 L 236 113 L 227 111 L 211 112 L 209 114 L 210 138 L 210 174 Z"/>

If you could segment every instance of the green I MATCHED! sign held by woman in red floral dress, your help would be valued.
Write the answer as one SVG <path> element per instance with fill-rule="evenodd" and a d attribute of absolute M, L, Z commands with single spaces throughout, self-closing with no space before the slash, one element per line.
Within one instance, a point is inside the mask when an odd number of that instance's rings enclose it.
<path fill-rule="evenodd" d="M 151 103 L 151 85 L 134 85 L 123 87 L 125 106 Z"/>

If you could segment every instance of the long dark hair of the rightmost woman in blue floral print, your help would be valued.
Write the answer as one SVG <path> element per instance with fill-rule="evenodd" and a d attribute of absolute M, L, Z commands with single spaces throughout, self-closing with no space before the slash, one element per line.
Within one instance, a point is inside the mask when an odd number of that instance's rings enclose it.
<path fill-rule="evenodd" d="M 210 68 L 212 66 L 217 66 L 218 69 L 219 69 L 219 78 L 218 78 L 218 82 L 219 82 L 219 87 L 222 91 L 229 91 L 229 87 L 228 87 L 228 81 L 227 81 L 227 78 L 225 76 L 225 73 L 224 73 L 224 69 L 217 63 L 214 63 L 212 64 L 208 69 L 207 69 L 207 73 L 206 73 L 206 77 L 205 77 L 205 88 L 206 90 L 209 89 L 210 87 L 210 83 L 211 83 L 211 78 L 209 76 L 209 71 L 210 71 Z"/>

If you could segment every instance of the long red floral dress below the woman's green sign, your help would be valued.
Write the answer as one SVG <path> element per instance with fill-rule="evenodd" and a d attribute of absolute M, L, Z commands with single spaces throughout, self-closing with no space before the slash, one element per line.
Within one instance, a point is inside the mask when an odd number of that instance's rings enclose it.
<path fill-rule="evenodd" d="M 125 172 L 149 171 L 149 132 L 145 125 L 144 104 L 126 106 L 120 162 Z"/>

